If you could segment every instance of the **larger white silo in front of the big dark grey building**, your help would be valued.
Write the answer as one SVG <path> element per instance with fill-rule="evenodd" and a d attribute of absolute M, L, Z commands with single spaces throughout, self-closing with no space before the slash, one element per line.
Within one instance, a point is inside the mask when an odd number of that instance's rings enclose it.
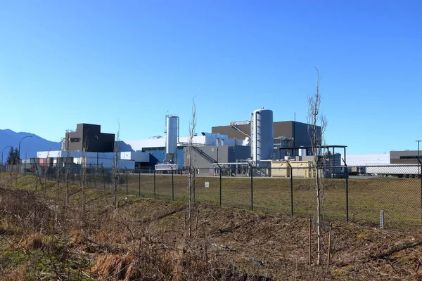
<path fill-rule="evenodd" d="M 274 150 L 272 110 L 255 110 L 250 116 L 250 150 L 253 161 L 271 158 Z"/>

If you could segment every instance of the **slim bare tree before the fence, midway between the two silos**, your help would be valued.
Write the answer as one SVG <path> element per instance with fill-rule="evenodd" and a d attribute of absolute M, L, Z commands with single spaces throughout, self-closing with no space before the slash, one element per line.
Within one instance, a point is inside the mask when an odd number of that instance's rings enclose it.
<path fill-rule="evenodd" d="M 189 138 L 188 138 L 188 235 L 192 236 L 192 192 L 195 190 L 195 168 L 193 166 L 193 136 L 196 129 L 196 104 L 195 98 L 192 99 L 192 118 L 189 121 Z"/>

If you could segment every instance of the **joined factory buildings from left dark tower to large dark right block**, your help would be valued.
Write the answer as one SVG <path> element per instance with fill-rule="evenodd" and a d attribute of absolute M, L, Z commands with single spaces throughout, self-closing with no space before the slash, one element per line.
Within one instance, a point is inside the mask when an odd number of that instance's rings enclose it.
<path fill-rule="evenodd" d="M 191 138 L 179 136 L 177 115 L 167 115 L 164 128 L 165 136 L 121 141 L 120 164 L 127 169 L 158 168 L 156 165 L 181 169 L 188 163 L 210 170 L 248 163 L 269 167 L 271 160 L 298 155 L 298 150 L 279 148 L 310 143 L 307 124 L 273 122 L 273 112 L 263 107 L 253 111 L 250 120 L 212 127 L 212 133 L 195 133 Z M 61 151 L 38 152 L 37 162 L 61 165 L 69 152 L 73 164 L 109 168 L 113 166 L 114 142 L 115 135 L 101 132 L 100 125 L 77 124 L 75 131 L 66 132 Z"/>

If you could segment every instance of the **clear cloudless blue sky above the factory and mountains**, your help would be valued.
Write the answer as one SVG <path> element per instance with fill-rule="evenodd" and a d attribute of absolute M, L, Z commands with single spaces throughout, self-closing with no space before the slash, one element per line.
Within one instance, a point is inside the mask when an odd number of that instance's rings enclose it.
<path fill-rule="evenodd" d="M 0 0 L 0 129 L 59 141 L 77 123 L 162 135 L 307 121 L 321 74 L 326 142 L 352 154 L 422 139 L 421 1 Z"/>

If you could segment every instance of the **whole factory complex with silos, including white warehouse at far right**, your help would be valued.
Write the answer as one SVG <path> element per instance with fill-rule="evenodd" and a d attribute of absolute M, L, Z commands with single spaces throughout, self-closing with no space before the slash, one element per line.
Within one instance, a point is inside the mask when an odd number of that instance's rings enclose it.
<path fill-rule="evenodd" d="M 211 132 L 192 136 L 179 136 L 179 123 L 177 115 L 167 115 L 164 136 L 116 143 L 115 134 L 101 132 L 100 125 L 77 124 L 76 130 L 65 132 L 61 150 L 37 152 L 37 157 L 30 162 L 104 169 L 113 168 L 117 162 L 119 169 L 142 169 L 159 174 L 191 166 L 204 175 L 215 175 L 224 169 L 224 176 L 248 174 L 250 166 L 260 168 L 259 176 L 289 176 L 288 169 L 274 168 L 294 166 L 298 168 L 295 176 L 310 176 L 309 168 L 314 162 L 310 136 L 314 132 L 308 130 L 308 124 L 274 122 L 273 112 L 263 107 L 253 111 L 248 120 L 213 126 Z M 320 133 L 321 128 L 316 127 L 316 136 Z M 342 168 L 345 161 L 348 166 L 415 164 L 415 155 L 414 151 L 347 155 L 345 145 L 324 145 L 319 150 L 318 162 L 337 167 L 330 173 L 338 176 L 345 173 Z"/>

